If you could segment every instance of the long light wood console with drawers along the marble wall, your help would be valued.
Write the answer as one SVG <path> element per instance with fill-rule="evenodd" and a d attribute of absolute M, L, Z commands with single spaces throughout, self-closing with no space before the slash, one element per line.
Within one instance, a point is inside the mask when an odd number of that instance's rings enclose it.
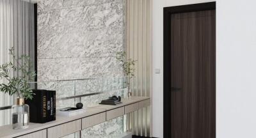
<path fill-rule="evenodd" d="M 122 100 L 120 105 L 97 105 L 86 108 L 86 112 L 72 117 L 56 116 L 56 121 L 29 123 L 29 128 L 13 130 L 12 125 L 0 127 L 1 138 L 58 138 L 79 132 L 104 121 L 150 105 L 150 98 L 134 96 Z"/>

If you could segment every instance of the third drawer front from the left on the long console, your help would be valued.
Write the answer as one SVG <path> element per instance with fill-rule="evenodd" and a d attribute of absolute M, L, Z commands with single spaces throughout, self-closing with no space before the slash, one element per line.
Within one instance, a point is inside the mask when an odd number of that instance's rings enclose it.
<path fill-rule="evenodd" d="M 92 127 L 99 123 L 106 121 L 106 112 L 102 112 L 100 114 L 95 114 L 93 116 L 89 116 L 87 118 L 82 119 L 82 129 Z"/>

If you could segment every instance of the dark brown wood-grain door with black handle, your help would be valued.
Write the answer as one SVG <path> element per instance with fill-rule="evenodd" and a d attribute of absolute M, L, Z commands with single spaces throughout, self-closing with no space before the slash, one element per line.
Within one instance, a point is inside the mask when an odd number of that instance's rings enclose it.
<path fill-rule="evenodd" d="M 215 138 L 215 10 L 171 17 L 172 138 Z"/>

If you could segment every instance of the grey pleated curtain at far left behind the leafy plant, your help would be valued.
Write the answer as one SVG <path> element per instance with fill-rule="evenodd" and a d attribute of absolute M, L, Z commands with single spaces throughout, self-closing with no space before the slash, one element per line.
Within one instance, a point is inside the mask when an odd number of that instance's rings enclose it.
<path fill-rule="evenodd" d="M 0 0 L 0 65 L 13 62 L 9 49 L 14 49 L 15 56 L 26 54 L 31 57 L 33 66 L 36 46 L 36 1 L 29 0 Z M 15 63 L 14 63 L 15 64 Z M 34 67 L 35 68 L 35 67 Z M 12 76 L 19 75 L 11 72 Z M 0 83 L 4 83 L 0 79 Z M 15 96 L 0 93 L 0 107 L 12 105 Z M 0 126 L 12 123 L 11 111 L 0 110 Z"/>

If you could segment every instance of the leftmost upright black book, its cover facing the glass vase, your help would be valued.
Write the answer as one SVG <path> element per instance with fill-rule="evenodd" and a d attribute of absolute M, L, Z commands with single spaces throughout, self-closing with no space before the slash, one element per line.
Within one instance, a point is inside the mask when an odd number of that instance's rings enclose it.
<path fill-rule="evenodd" d="M 29 105 L 29 120 L 33 123 L 47 122 L 47 91 L 44 89 L 33 90 L 33 100 L 26 100 Z"/>

